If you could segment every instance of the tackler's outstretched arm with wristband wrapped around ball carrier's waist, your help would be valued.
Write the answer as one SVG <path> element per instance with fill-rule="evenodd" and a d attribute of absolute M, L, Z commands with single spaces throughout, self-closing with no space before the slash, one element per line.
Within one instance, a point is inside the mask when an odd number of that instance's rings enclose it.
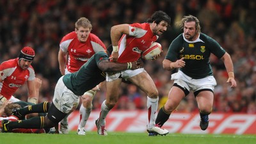
<path fill-rule="evenodd" d="M 136 68 L 141 68 L 143 67 L 143 61 L 138 60 L 138 61 L 133 61 L 129 63 L 117 63 L 117 62 L 111 62 L 109 60 L 102 60 L 99 62 L 98 67 L 103 72 L 119 72 L 121 70 L 127 70 L 127 69 L 134 70 Z"/>

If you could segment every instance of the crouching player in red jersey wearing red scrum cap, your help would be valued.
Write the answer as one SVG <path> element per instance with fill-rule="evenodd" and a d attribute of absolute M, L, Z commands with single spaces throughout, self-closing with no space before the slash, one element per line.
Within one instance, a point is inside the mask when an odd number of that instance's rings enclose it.
<path fill-rule="evenodd" d="M 13 97 L 13 93 L 22 86 L 28 86 L 28 102 L 37 104 L 38 91 L 35 88 L 35 70 L 31 63 L 35 57 L 35 51 L 31 47 L 23 47 L 19 58 L 4 61 L 0 64 L 0 101 L 19 101 Z M 40 81 L 40 79 L 37 79 Z"/>

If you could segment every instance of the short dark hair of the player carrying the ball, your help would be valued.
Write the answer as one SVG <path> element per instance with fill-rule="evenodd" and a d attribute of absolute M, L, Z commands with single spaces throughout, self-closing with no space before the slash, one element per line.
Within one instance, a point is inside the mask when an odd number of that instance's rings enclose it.
<path fill-rule="evenodd" d="M 161 21 L 165 21 L 168 23 L 168 26 L 171 24 L 171 18 L 169 15 L 167 15 L 165 12 L 159 10 L 152 14 L 152 16 L 147 19 L 148 23 L 156 22 L 156 24 L 159 24 Z"/>

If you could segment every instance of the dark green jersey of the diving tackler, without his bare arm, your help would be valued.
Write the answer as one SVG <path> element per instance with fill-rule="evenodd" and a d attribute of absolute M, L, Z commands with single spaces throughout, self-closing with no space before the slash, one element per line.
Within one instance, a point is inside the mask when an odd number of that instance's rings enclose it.
<path fill-rule="evenodd" d="M 106 74 L 99 68 L 99 62 L 107 60 L 108 54 L 103 51 L 96 52 L 77 72 L 66 74 L 63 82 L 75 95 L 83 95 L 97 84 L 106 80 Z"/>

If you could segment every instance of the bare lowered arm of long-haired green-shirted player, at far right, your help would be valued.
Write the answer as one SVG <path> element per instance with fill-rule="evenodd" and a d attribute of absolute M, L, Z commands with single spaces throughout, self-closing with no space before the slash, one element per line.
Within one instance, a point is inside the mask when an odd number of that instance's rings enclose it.
<path fill-rule="evenodd" d="M 221 60 L 223 60 L 226 70 L 228 72 L 227 83 L 231 83 L 231 88 L 236 87 L 234 66 L 233 66 L 232 59 L 230 58 L 230 55 L 227 52 L 225 52 L 225 54 L 222 56 Z"/>

